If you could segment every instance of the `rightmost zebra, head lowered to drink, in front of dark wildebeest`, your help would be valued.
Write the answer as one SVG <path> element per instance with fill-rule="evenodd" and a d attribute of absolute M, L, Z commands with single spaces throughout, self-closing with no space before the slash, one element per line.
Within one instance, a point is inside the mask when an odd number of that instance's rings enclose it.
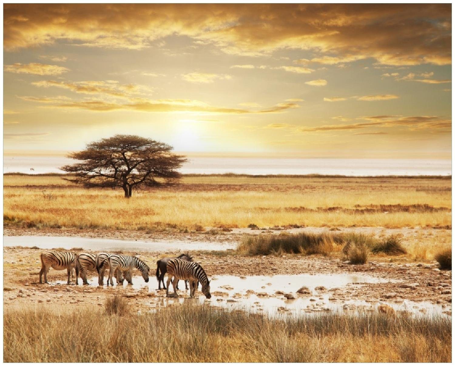
<path fill-rule="evenodd" d="M 194 297 L 194 293 L 197 289 L 197 281 L 202 285 L 202 294 L 207 299 L 210 299 L 210 281 L 207 278 L 207 274 L 199 263 L 188 262 L 182 259 L 171 259 L 167 262 L 167 288 L 166 297 L 169 297 L 169 284 L 172 281 L 172 287 L 174 288 L 174 296 L 177 297 L 177 284 L 180 279 L 187 279 L 190 283 L 190 297 Z"/>

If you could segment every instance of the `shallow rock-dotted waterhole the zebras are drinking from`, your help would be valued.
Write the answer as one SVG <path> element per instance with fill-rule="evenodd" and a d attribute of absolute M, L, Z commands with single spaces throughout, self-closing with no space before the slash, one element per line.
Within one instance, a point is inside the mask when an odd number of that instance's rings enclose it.
<path fill-rule="evenodd" d="M 115 281 L 115 279 L 114 279 Z M 106 282 L 106 278 L 105 278 Z M 199 286 L 197 299 L 190 299 L 189 290 L 183 290 L 185 285 L 180 281 L 179 298 L 166 298 L 165 291 L 158 292 L 159 298 L 147 299 L 147 305 L 152 310 L 183 304 L 184 302 L 199 302 L 200 304 L 208 303 L 211 306 L 227 308 L 230 310 L 248 310 L 254 313 L 268 314 L 274 316 L 277 314 L 299 315 L 299 314 L 321 314 L 323 312 L 346 312 L 355 313 L 359 310 L 374 310 L 379 304 L 387 304 L 397 311 L 408 311 L 415 315 L 432 315 L 443 314 L 443 311 L 451 311 L 451 304 L 446 304 L 443 308 L 440 304 L 431 304 L 430 302 L 413 302 L 404 300 L 400 303 L 393 301 L 387 302 L 367 302 L 364 300 L 336 300 L 329 298 L 332 296 L 333 289 L 348 289 L 351 291 L 362 291 L 363 284 L 366 283 L 386 283 L 390 280 L 377 278 L 367 275 L 356 275 L 351 273 L 345 274 L 299 274 L 299 275 L 275 275 L 275 276 L 248 276 L 240 278 L 237 276 L 214 276 L 210 282 L 212 299 L 206 300 L 201 293 Z M 65 284 L 65 281 L 59 281 Z M 98 278 L 94 277 L 89 280 L 92 286 L 97 286 Z M 300 296 L 296 291 L 307 286 L 312 292 L 311 295 Z M 315 287 L 324 286 L 327 290 L 315 290 Z M 157 281 L 151 277 L 146 284 L 142 277 L 134 276 L 133 285 L 125 283 L 124 289 L 144 290 L 155 292 Z M 254 293 L 247 293 L 252 290 Z M 216 292 L 227 293 L 227 296 L 218 296 Z M 285 299 L 281 294 L 275 294 L 275 291 L 284 293 L 292 292 L 297 299 Z M 251 292 L 251 291 L 250 291 Z M 173 293 L 172 285 L 169 293 Z M 268 296 L 260 296 L 258 293 L 265 293 Z M 443 314 L 444 315 L 444 314 Z"/>

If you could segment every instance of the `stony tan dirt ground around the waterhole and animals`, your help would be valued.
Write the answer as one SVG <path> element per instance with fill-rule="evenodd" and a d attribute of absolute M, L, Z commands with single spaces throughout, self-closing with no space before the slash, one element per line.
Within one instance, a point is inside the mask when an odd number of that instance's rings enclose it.
<path fill-rule="evenodd" d="M 308 229 L 308 228 L 306 228 Z M 324 229 L 324 228 L 323 228 Z M 356 228 L 359 230 L 361 228 Z M 450 230 L 436 229 L 372 229 L 363 228 L 364 231 L 373 231 L 389 235 L 390 231 L 399 230 L 404 234 L 405 242 L 410 243 L 419 237 L 431 237 L 438 240 L 438 237 L 447 239 Z M 37 229 L 8 229 L 5 228 L 5 235 L 50 235 L 50 236 L 84 236 L 104 237 L 116 239 L 147 239 L 147 240 L 192 240 L 192 241 L 238 241 L 243 232 L 257 233 L 259 230 L 239 229 L 240 232 L 222 233 L 217 235 L 207 233 L 181 234 L 127 232 L 127 231 L 103 231 L 94 230 L 81 232 L 80 230 L 37 230 Z M 301 230 L 301 229 L 294 229 Z M 319 229 L 321 230 L 321 229 Z M 327 228 L 326 228 L 327 230 Z M 86 248 L 84 248 L 86 250 Z M 46 306 L 56 311 L 65 311 L 73 307 L 97 307 L 102 306 L 108 296 L 114 293 L 121 293 L 131 302 L 136 309 L 150 309 L 151 307 L 163 304 L 166 299 L 164 290 L 133 289 L 131 286 L 76 286 L 66 284 L 66 271 L 50 270 L 48 279 L 51 285 L 39 284 L 40 270 L 40 249 L 25 247 L 4 247 L 4 306 L 5 309 Z M 184 252 L 182 248 L 182 252 Z M 124 252 L 124 254 L 138 255 L 149 264 L 150 281 L 156 282 L 155 271 L 156 261 L 164 256 L 178 255 L 180 252 L 158 253 L 158 252 Z M 451 271 L 439 270 L 438 264 L 434 261 L 419 263 L 412 262 L 409 258 L 395 257 L 373 257 L 368 264 L 351 265 L 343 263 L 340 258 L 286 255 L 243 257 L 233 255 L 212 255 L 209 252 L 192 251 L 195 260 L 201 263 L 209 278 L 216 275 L 276 275 L 276 274 L 341 274 L 357 273 L 366 274 L 378 278 L 391 280 L 382 284 L 362 284 L 361 289 L 352 285 L 340 289 L 322 289 L 324 293 L 331 295 L 333 301 L 359 299 L 366 301 L 394 301 L 403 302 L 404 299 L 413 301 L 428 301 L 433 304 L 451 303 Z M 96 273 L 92 273 L 95 277 Z M 135 273 L 139 275 L 139 273 Z M 56 281 L 64 281 L 65 284 L 56 284 Z M 81 284 L 81 281 L 80 281 Z M 181 282 L 181 288 L 183 288 Z M 296 292 L 303 284 L 283 284 L 284 292 Z M 153 288 L 153 286 L 151 287 Z M 157 289 L 157 286 L 154 287 Z M 188 292 L 180 290 L 181 297 L 188 297 Z M 247 296 L 248 294 L 242 294 Z M 296 294 L 297 296 L 304 296 Z M 269 294 L 283 298 L 283 294 Z"/>

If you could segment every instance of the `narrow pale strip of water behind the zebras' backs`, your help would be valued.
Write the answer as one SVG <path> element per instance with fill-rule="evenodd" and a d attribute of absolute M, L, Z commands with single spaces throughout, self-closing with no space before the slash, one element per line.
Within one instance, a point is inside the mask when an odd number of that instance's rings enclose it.
<path fill-rule="evenodd" d="M 160 241 L 147 242 L 145 240 L 116 240 L 98 239 L 90 237 L 40 237 L 40 236 L 4 236 L 4 247 L 39 247 L 40 249 L 64 248 L 69 250 L 82 247 L 86 250 L 113 251 L 113 250 L 149 250 L 165 252 L 170 250 L 227 250 L 234 249 L 234 242 L 192 242 L 192 241 Z"/>

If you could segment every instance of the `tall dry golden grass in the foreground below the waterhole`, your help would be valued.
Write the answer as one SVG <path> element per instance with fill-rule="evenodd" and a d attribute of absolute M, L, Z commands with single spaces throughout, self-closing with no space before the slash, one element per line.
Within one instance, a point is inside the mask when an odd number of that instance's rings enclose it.
<path fill-rule="evenodd" d="M 207 306 L 158 314 L 4 315 L 5 362 L 450 362 L 449 318 L 370 313 L 271 320 Z"/>

